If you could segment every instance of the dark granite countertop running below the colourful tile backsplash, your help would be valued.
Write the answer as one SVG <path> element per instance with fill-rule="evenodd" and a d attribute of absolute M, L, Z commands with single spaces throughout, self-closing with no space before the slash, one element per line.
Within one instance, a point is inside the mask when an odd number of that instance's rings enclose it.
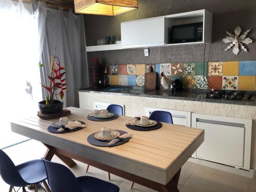
<path fill-rule="evenodd" d="M 180 92 L 171 93 L 171 92 L 164 92 L 162 90 L 144 91 L 144 90 L 127 89 L 127 88 L 111 88 L 111 89 L 93 90 L 92 88 L 87 88 L 87 89 L 79 89 L 78 92 L 130 95 L 130 96 L 139 96 L 139 97 L 152 97 L 152 98 L 163 98 L 163 99 L 177 99 L 177 100 L 256 106 L 256 101 L 209 99 L 209 98 L 206 98 L 206 90 L 183 90 Z M 253 93 L 255 95 L 255 92 Z"/>

